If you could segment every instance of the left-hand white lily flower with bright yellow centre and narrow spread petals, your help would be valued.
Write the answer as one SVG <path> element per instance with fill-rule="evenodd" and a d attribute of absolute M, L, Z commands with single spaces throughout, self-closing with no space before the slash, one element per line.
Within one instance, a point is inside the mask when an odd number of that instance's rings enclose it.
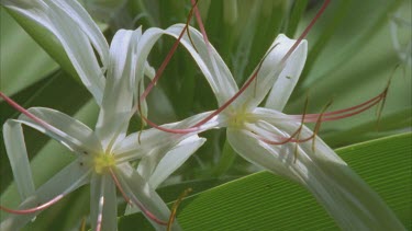
<path fill-rule="evenodd" d="M 143 211 L 157 230 L 165 230 L 170 211 L 154 190 L 203 142 L 197 135 L 172 135 L 157 129 L 126 136 L 135 112 L 130 80 L 135 76 L 137 41 L 141 30 L 119 31 L 112 41 L 108 78 L 100 115 L 92 130 L 60 112 L 33 107 L 27 111 L 0 93 L 23 114 L 3 127 L 4 143 L 22 198 L 18 210 L 1 207 L 11 215 L 1 230 L 16 230 L 42 209 L 78 187 L 90 184 L 90 220 L 93 230 L 116 230 L 116 187 L 129 204 Z M 187 126 L 187 122 L 166 127 Z M 27 159 L 22 125 L 30 126 L 66 146 L 77 158 L 35 189 Z M 130 165 L 142 160 L 140 171 Z M 147 161 L 151 160 L 151 161 Z M 172 224 L 178 230 L 177 222 Z"/>

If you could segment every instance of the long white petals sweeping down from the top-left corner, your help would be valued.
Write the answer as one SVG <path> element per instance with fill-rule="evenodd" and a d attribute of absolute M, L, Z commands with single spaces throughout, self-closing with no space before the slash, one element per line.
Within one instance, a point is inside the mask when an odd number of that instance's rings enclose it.
<path fill-rule="evenodd" d="M 100 105 L 104 89 L 104 70 L 99 65 L 93 47 L 105 66 L 109 46 L 82 7 L 77 1 L 63 0 L 2 0 L 1 4 L 36 22 L 56 36 L 81 81 Z"/>

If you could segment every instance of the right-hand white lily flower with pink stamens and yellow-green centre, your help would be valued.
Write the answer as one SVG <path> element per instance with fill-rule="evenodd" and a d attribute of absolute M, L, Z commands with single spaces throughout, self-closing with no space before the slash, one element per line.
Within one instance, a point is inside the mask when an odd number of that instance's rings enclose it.
<path fill-rule="evenodd" d="M 145 36 L 156 37 L 162 33 L 178 37 L 183 26 L 174 25 L 157 32 L 157 35 L 145 33 L 142 41 L 149 39 Z M 246 81 L 247 85 L 242 88 L 241 94 L 215 49 L 204 42 L 197 30 L 190 28 L 190 33 L 196 49 L 187 35 L 181 38 L 181 44 L 205 76 L 219 105 L 227 105 L 219 115 L 212 113 L 201 122 L 198 119 L 192 128 L 198 125 L 211 128 L 209 123 L 227 127 L 227 140 L 238 154 L 308 188 L 344 230 L 404 230 L 379 195 L 326 143 L 302 125 L 302 122 L 335 120 L 364 112 L 379 103 L 387 90 L 348 109 L 303 116 L 286 115 L 281 111 L 305 62 L 305 41 L 285 59 L 296 41 L 279 35 L 254 74 Z M 265 107 L 259 107 L 268 93 Z M 233 101 L 233 96 L 238 94 Z M 209 118 L 212 120 L 208 122 Z M 308 142 L 309 140 L 314 141 Z"/>

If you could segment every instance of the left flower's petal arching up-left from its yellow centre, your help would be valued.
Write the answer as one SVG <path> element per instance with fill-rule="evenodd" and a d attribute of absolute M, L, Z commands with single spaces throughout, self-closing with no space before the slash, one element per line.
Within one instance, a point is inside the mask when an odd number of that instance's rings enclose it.
<path fill-rule="evenodd" d="M 51 126 L 43 127 L 25 115 L 20 115 L 15 122 L 52 137 L 75 152 L 87 154 L 102 151 L 98 137 L 81 122 L 51 108 L 32 107 L 27 111 Z"/>

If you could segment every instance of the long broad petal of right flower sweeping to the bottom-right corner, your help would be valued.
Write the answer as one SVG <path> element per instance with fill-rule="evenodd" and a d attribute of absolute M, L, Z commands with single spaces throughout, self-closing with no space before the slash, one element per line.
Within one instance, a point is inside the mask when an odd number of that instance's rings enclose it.
<path fill-rule="evenodd" d="M 277 123 L 269 130 L 277 136 L 289 137 L 300 126 Z M 311 135 L 304 127 L 301 137 Z M 342 229 L 403 230 L 382 199 L 320 138 L 316 137 L 314 151 L 310 141 L 298 148 L 296 143 L 271 146 L 247 130 L 229 129 L 227 138 L 245 159 L 307 187 Z"/>

